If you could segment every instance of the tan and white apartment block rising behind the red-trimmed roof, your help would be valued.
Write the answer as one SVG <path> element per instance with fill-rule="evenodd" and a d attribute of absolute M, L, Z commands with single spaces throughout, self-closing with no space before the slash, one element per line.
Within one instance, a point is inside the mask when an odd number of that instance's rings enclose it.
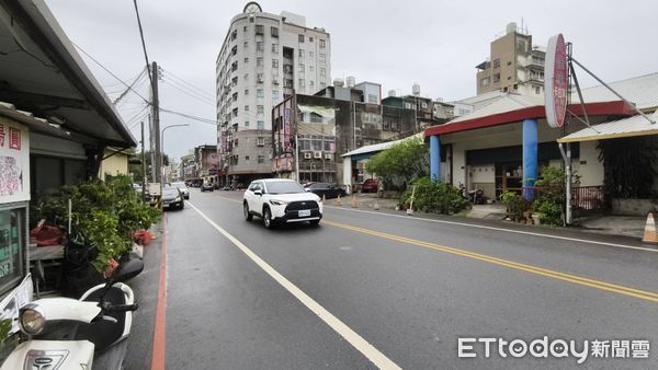
<path fill-rule="evenodd" d="M 477 94 L 543 95 L 545 55 L 543 47 L 532 45 L 527 31 L 508 24 L 506 34 L 491 42 L 490 57 L 476 67 Z"/>

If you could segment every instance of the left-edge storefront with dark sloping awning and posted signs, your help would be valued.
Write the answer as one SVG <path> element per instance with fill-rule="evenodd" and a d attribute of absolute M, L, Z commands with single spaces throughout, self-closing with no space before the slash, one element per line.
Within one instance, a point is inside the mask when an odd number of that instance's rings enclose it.
<path fill-rule="evenodd" d="M 0 13 L 0 50 L 13 50 L 0 57 L 0 320 L 15 331 L 33 293 L 30 203 L 98 178 L 106 149 L 136 140 L 43 1 Z"/>

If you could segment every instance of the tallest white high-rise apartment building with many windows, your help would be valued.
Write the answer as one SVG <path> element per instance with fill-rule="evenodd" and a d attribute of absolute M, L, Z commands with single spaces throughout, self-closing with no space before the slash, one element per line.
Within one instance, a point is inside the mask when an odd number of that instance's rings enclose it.
<path fill-rule="evenodd" d="M 272 107 L 294 92 L 325 89 L 330 60 L 329 34 L 302 15 L 249 2 L 234 16 L 216 60 L 219 183 L 271 176 Z"/>

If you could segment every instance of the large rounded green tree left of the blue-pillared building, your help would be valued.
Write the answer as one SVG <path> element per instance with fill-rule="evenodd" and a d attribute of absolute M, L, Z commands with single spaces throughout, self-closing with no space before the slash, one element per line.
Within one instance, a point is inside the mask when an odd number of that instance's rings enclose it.
<path fill-rule="evenodd" d="M 405 189 L 413 178 L 428 175 L 430 153 L 422 138 L 406 139 L 370 159 L 365 169 L 386 188 Z"/>

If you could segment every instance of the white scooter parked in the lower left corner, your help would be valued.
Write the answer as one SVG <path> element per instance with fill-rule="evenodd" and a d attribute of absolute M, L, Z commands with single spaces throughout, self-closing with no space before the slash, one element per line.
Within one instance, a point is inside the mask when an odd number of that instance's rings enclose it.
<path fill-rule="evenodd" d="M 23 305 L 19 324 L 27 340 L 0 369 L 122 369 L 137 303 L 133 290 L 120 281 L 143 269 L 141 261 L 131 259 L 79 300 L 45 298 Z"/>

